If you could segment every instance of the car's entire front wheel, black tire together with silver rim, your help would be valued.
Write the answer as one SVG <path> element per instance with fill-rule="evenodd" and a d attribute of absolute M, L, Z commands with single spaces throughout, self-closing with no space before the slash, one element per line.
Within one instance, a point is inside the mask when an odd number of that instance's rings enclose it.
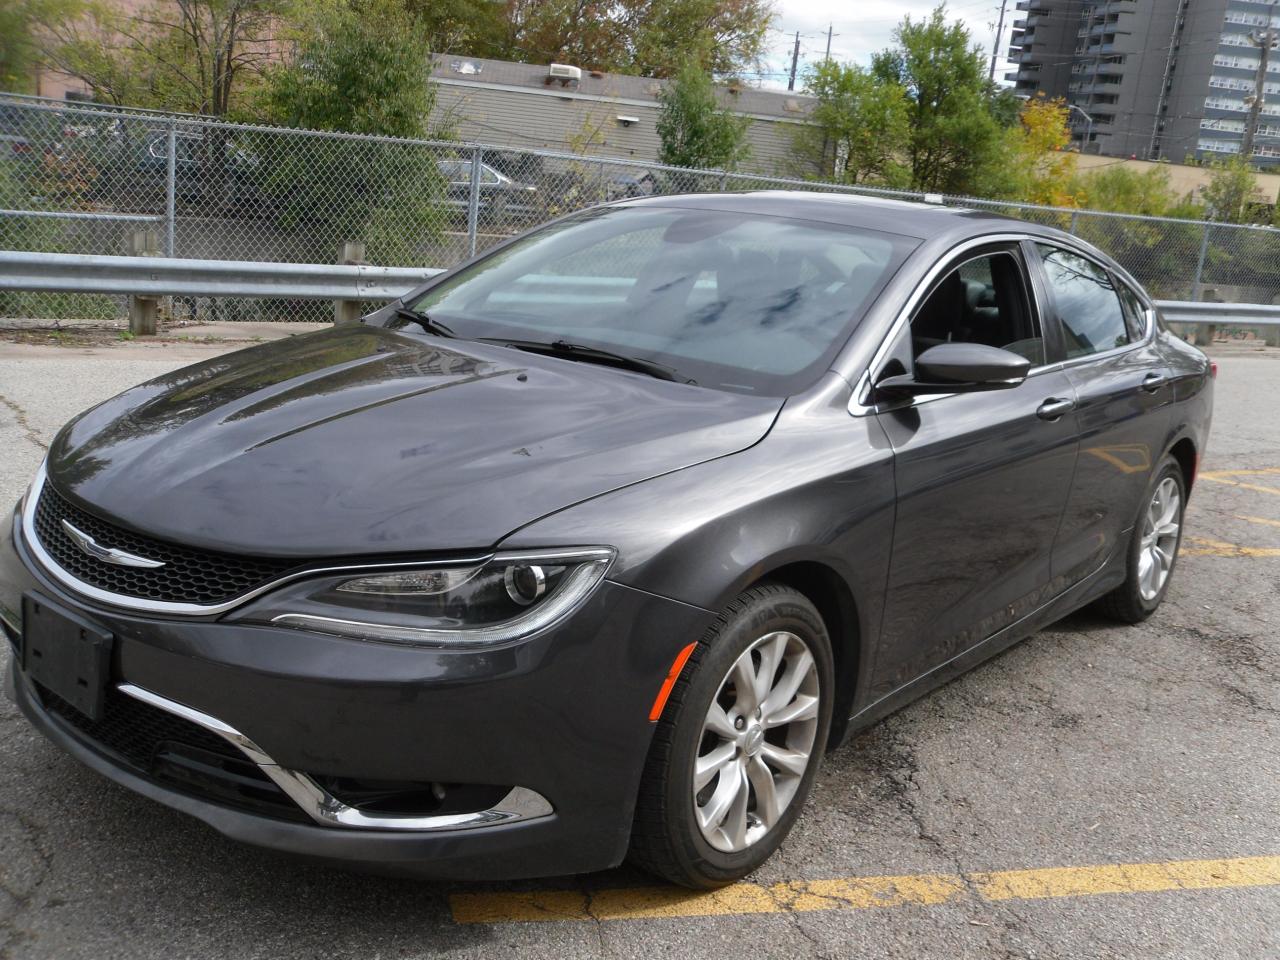
<path fill-rule="evenodd" d="M 773 677 L 773 705 L 765 695 L 759 714 L 750 710 L 758 694 L 740 695 L 732 680 L 744 658 L 753 675 Z M 772 671 L 760 668 L 765 658 Z M 658 721 L 636 801 L 631 863 L 695 890 L 732 883 L 763 864 L 795 824 L 822 764 L 833 677 L 827 628 L 803 594 L 763 584 L 739 595 L 699 640 Z M 707 727 L 713 701 L 721 708 L 716 730 Z M 767 726 L 771 716 L 774 726 Z M 716 758 L 724 758 L 719 772 L 704 774 L 695 794 L 695 763 L 709 767 Z M 741 799 L 726 806 L 731 794 Z M 717 827 L 721 808 L 727 813 Z"/>

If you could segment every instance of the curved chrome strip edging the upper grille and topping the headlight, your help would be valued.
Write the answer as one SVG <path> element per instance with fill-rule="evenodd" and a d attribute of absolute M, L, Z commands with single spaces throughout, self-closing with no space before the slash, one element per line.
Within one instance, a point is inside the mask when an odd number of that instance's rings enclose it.
<path fill-rule="evenodd" d="M 45 463 L 40 465 L 40 470 L 36 471 L 36 479 L 31 484 L 31 490 L 27 493 L 26 503 L 23 504 L 22 512 L 22 541 L 31 550 L 32 556 L 40 563 L 40 568 L 47 573 L 52 580 L 55 580 L 61 586 L 72 590 L 81 596 L 90 600 L 97 600 L 109 607 L 118 607 L 125 611 L 137 611 L 141 613 L 173 613 L 180 617 L 210 617 L 219 613 L 227 613 L 237 607 L 252 600 L 256 596 L 283 586 L 285 584 L 292 584 L 296 580 L 303 580 L 312 576 L 323 576 L 325 573 L 344 573 L 348 571 L 362 572 L 371 570 L 403 570 L 407 567 L 421 567 L 425 563 L 430 563 L 436 567 L 454 567 L 454 566 L 476 566 L 480 563 L 489 563 L 497 554 L 485 553 L 472 557 L 451 557 L 448 559 L 416 559 L 416 561 L 396 561 L 385 563 L 357 563 L 357 564 L 339 564 L 339 566 L 326 566 L 326 567 L 307 567 L 306 570 L 298 570 L 288 573 L 283 577 L 276 577 L 266 584 L 262 584 L 248 593 L 241 594 L 230 600 L 215 604 L 200 604 L 200 603 L 177 603 L 170 600 L 147 600 L 140 596 L 127 596 L 123 594 L 111 593 L 109 590 L 102 590 L 93 586 L 92 584 L 86 584 L 78 577 L 73 576 L 68 571 L 63 570 L 58 564 L 44 545 L 40 543 L 40 538 L 36 535 L 36 504 L 40 502 L 40 494 L 45 489 L 45 483 L 47 480 L 47 466 Z M 581 550 L 570 552 L 562 550 L 559 553 L 548 552 L 539 553 L 538 557 L 547 559 L 557 559 L 561 556 L 581 556 Z M 515 558 L 515 554 L 513 554 Z"/>

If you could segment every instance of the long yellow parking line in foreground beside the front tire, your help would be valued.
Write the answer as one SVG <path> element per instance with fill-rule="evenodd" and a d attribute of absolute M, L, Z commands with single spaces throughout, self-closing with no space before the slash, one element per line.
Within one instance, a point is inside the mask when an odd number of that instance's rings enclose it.
<path fill-rule="evenodd" d="M 1280 856 L 1050 867 L 966 876 L 847 877 L 768 887 L 735 883 L 705 893 L 677 887 L 454 893 L 449 906 L 454 922 L 466 924 L 640 920 L 1265 886 L 1280 886 Z"/>

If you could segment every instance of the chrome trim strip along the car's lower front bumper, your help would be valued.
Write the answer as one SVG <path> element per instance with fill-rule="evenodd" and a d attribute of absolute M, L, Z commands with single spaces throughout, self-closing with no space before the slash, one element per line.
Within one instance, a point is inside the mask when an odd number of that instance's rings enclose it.
<path fill-rule="evenodd" d="M 116 686 L 122 694 L 141 700 L 156 709 L 182 717 L 184 721 L 216 733 L 252 760 L 293 803 L 316 823 L 325 827 L 351 827 L 357 829 L 404 831 L 458 831 L 492 827 L 498 823 L 516 823 L 548 817 L 552 805 L 541 794 L 527 787 L 512 787 L 495 806 L 475 813 L 448 813 L 415 817 L 407 814 L 370 814 L 348 806 L 329 794 L 306 773 L 291 771 L 273 760 L 257 744 L 216 717 L 192 709 L 186 704 L 143 690 L 133 684 Z"/>

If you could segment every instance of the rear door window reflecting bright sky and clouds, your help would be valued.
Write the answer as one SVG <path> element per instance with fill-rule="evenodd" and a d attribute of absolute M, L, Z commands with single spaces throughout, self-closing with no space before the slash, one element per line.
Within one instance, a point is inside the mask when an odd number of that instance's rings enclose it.
<path fill-rule="evenodd" d="M 1111 275 L 1061 247 L 1037 243 L 1053 293 L 1066 356 L 1085 357 L 1129 343 L 1129 319 Z"/>

